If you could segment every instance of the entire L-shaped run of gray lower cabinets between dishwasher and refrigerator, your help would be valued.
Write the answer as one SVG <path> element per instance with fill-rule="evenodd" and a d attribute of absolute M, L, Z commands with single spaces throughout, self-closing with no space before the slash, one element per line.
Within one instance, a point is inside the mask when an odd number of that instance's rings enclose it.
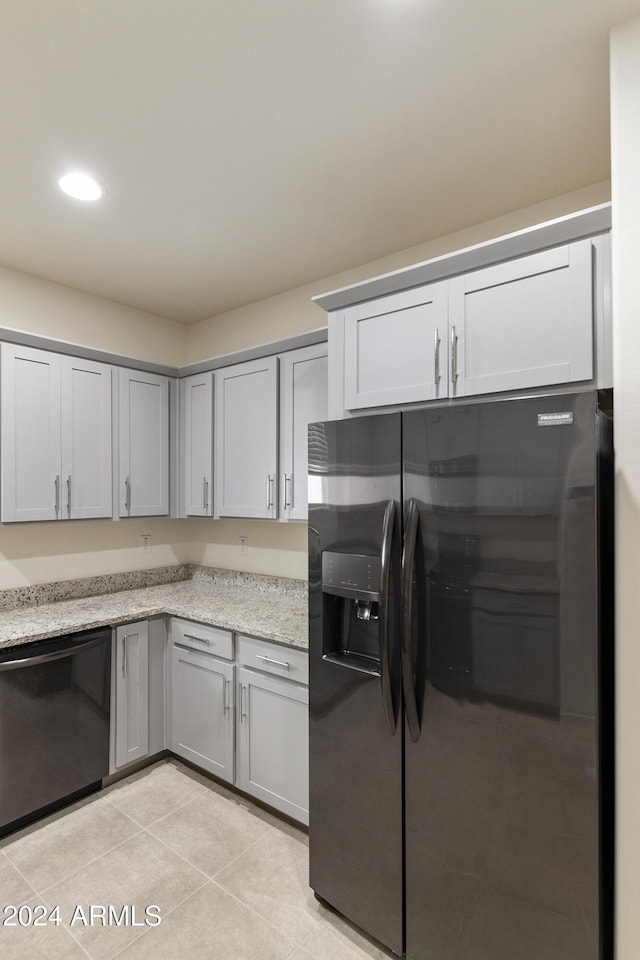
<path fill-rule="evenodd" d="M 117 627 L 112 660 L 111 773 L 166 748 L 309 822 L 306 650 L 157 617 Z"/>

